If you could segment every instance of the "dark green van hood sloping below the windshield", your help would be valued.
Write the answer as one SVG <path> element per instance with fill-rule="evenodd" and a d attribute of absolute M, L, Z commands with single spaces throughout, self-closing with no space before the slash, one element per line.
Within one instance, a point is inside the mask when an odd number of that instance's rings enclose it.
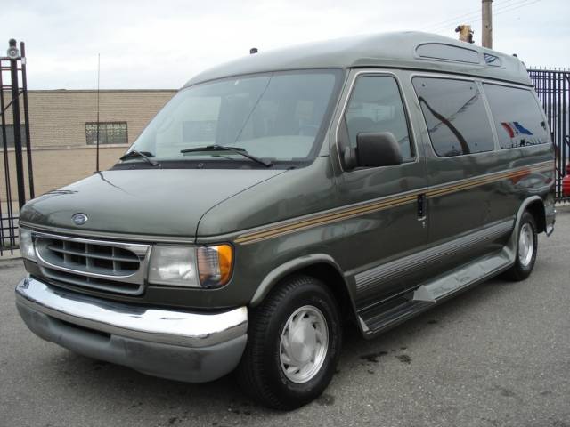
<path fill-rule="evenodd" d="M 284 170 L 138 169 L 94 173 L 24 205 L 20 222 L 67 230 L 194 237 L 208 209 Z M 85 214 L 82 225 L 73 215 Z M 75 231 L 74 231 L 75 232 Z"/>

